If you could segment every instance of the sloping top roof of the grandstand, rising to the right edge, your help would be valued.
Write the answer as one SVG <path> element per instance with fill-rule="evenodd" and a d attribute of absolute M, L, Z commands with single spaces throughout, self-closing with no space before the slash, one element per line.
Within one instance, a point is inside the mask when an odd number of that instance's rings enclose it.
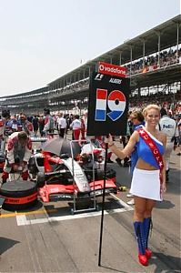
<path fill-rule="evenodd" d="M 120 63 L 120 54 L 122 59 L 122 64 L 129 63 L 130 60 L 130 48 L 132 47 L 132 59 L 136 60 L 143 57 L 143 43 L 145 41 L 145 56 L 149 56 L 158 51 L 158 35 L 160 35 L 160 51 L 176 45 L 177 39 L 177 25 L 181 25 L 181 15 L 166 21 L 161 25 L 156 25 L 156 27 L 146 31 L 142 35 L 138 35 L 133 39 L 127 40 L 122 45 L 118 45 L 116 48 L 107 51 L 105 54 L 96 57 L 95 59 L 85 63 L 82 66 L 75 68 L 71 72 L 60 76 L 48 86 L 54 86 L 58 82 L 71 78 L 71 76 L 77 74 L 84 74 L 85 70 L 89 68 L 95 70 L 95 66 L 99 61 L 105 61 L 107 63 L 111 62 L 115 65 Z M 179 27 L 178 44 L 181 43 L 181 27 Z M 83 78 L 83 76 L 80 78 Z"/>

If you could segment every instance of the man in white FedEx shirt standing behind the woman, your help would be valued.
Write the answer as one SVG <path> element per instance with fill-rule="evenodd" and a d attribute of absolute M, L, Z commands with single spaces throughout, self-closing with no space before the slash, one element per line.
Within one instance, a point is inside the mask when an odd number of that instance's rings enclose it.
<path fill-rule="evenodd" d="M 160 114 L 160 130 L 166 134 L 166 182 L 168 182 L 170 155 L 172 150 L 175 150 L 177 146 L 178 128 L 176 126 L 176 120 L 167 115 L 165 108 L 160 110 Z"/>

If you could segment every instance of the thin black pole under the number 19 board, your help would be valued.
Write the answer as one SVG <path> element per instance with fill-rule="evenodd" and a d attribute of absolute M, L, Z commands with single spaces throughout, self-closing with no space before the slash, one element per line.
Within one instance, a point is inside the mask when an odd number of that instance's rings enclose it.
<path fill-rule="evenodd" d="M 103 201 L 102 201 L 102 215 L 101 215 L 101 227 L 100 227 L 100 241 L 99 241 L 99 255 L 98 266 L 101 266 L 101 253 L 102 253 L 102 240 L 103 240 L 103 222 L 104 222 L 104 210 L 105 210 L 105 187 L 106 187 L 106 158 L 107 158 L 108 143 L 106 143 L 106 155 L 104 166 L 104 187 L 103 187 Z"/>

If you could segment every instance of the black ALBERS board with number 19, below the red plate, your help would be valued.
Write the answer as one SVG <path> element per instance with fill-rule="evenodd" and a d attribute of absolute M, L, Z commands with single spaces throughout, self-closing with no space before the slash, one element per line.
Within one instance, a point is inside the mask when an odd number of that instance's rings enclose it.
<path fill-rule="evenodd" d="M 128 98 L 128 78 L 93 73 L 89 86 L 86 135 L 126 135 Z"/>

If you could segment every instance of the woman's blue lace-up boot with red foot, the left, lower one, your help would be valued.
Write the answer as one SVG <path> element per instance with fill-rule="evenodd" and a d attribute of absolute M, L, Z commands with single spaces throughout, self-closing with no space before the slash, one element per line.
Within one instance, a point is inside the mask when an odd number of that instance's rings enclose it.
<path fill-rule="evenodd" d="M 147 266 L 143 222 L 134 222 L 134 227 L 138 246 L 138 259 L 140 264 L 142 264 L 143 266 Z"/>

